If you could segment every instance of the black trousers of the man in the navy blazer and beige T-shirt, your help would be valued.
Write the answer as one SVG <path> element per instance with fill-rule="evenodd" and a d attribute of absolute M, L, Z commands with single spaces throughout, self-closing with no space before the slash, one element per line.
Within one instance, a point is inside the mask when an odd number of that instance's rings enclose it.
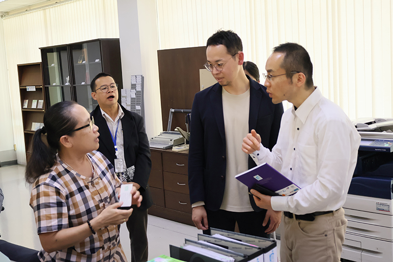
<path fill-rule="evenodd" d="M 265 233 L 270 221 L 265 227 L 262 226 L 266 215 L 265 209 L 260 212 L 231 212 L 222 209 L 211 211 L 206 209 L 206 213 L 209 229 L 204 230 L 204 234 L 210 235 L 210 228 L 233 232 L 237 222 L 240 233 L 270 238 L 270 234 Z"/>

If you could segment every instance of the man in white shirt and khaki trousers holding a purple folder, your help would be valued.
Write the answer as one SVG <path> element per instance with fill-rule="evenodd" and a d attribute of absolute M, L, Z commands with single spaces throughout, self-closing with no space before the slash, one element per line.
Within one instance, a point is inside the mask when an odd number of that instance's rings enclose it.
<path fill-rule="evenodd" d="M 254 130 L 242 150 L 268 163 L 298 185 L 295 195 L 270 197 L 251 190 L 255 203 L 284 211 L 281 262 L 340 261 L 347 220 L 342 205 L 355 170 L 360 135 L 345 113 L 312 81 L 307 51 L 295 43 L 274 48 L 265 86 L 273 103 L 293 104 L 281 119 L 272 152 Z"/>

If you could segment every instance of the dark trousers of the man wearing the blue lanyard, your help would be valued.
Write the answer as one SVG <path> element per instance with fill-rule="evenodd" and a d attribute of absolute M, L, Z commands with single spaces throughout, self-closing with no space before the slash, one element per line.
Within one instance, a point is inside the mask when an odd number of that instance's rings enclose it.
<path fill-rule="evenodd" d="M 148 257 L 147 209 L 133 205 L 131 216 L 126 222 L 131 241 L 131 262 L 146 262 Z"/>

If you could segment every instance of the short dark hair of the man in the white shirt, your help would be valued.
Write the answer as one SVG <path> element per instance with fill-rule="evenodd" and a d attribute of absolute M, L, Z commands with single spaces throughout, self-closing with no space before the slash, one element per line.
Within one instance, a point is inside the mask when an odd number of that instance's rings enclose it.
<path fill-rule="evenodd" d="M 291 72 L 302 72 L 306 75 L 306 87 L 311 88 L 314 86 L 312 81 L 312 63 L 307 50 L 296 43 L 285 43 L 276 46 L 273 53 L 285 54 L 280 67 L 285 70 L 286 77 L 291 78 Z"/>

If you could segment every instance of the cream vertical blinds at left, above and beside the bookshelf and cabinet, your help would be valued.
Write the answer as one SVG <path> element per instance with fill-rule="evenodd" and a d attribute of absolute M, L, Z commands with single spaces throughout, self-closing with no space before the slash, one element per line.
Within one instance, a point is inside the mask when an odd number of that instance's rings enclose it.
<path fill-rule="evenodd" d="M 3 18 L 18 163 L 26 163 L 17 64 L 41 61 L 39 47 L 118 38 L 115 0 L 75 0 Z"/>

